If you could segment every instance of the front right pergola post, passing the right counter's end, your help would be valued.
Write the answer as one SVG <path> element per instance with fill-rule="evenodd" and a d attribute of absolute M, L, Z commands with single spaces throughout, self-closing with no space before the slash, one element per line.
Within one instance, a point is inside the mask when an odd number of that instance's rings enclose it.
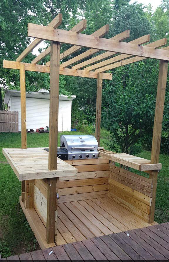
<path fill-rule="evenodd" d="M 165 102 L 165 89 L 167 83 L 167 71 L 168 71 L 168 61 L 160 60 L 157 97 L 156 97 L 156 110 L 155 110 L 154 128 L 153 128 L 153 141 L 152 141 L 152 148 L 151 148 L 151 164 L 159 163 L 161 131 L 162 131 L 162 122 L 163 122 L 164 102 Z M 150 223 L 154 221 L 157 176 L 158 176 L 158 170 L 152 171 L 150 174 L 150 178 L 153 179 L 153 193 L 152 193 L 152 203 L 151 203 L 151 212 L 150 212 L 150 221 L 149 221 Z"/>

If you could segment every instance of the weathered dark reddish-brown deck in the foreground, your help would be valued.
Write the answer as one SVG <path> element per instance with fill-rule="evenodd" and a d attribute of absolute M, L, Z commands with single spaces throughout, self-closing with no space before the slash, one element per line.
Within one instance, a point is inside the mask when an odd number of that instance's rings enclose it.
<path fill-rule="evenodd" d="M 128 235 L 129 234 L 129 235 Z M 52 252 L 51 252 L 52 251 Z M 86 239 L 2 260 L 168 260 L 169 223 Z"/>

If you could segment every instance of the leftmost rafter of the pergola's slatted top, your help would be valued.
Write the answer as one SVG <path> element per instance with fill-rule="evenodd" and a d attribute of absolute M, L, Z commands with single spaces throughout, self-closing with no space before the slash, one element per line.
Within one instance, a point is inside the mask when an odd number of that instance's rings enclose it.
<path fill-rule="evenodd" d="M 57 28 L 60 24 L 62 23 L 62 14 L 58 14 L 48 25 L 49 27 L 53 27 L 53 28 Z M 33 42 L 26 47 L 26 49 L 20 54 L 20 56 L 18 56 L 18 58 L 16 59 L 17 62 L 21 62 L 23 60 L 23 58 L 25 58 L 29 53 L 32 52 L 32 50 L 41 42 L 43 41 L 43 39 L 38 39 L 35 38 L 35 40 L 33 40 Z"/>

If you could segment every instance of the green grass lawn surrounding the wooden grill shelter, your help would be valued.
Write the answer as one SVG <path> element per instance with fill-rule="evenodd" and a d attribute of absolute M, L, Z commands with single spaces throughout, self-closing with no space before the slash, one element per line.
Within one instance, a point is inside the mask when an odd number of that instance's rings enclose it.
<path fill-rule="evenodd" d="M 59 133 L 82 134 L 78 132 Z M 48 147 L 48 133 L 27 133 L 28 147 Z M 101 139 L 101 146 L 107 148 L 107 140 Z M 7 163 L 2 148 L 21 147 L 21 133 L 0 133 L 0 252 L 10 256 L 39 249 L 38 243 L 19 205 L 21 182 Z M 142 151 L 139 156 L 150 159 L 151 153 Z M 169 221 L 169 155 L 160 155 L 163 167 L 158 175 L 155 221 Z M 145 174 L 146 175 L 146 174 Z"/>

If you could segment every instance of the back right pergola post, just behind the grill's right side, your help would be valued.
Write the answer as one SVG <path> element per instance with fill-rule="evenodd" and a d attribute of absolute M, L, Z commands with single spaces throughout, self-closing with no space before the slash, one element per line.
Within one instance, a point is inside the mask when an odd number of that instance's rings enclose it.
<path fill-rule="evenodd" d="M 101 109 L 102 109 L 102 83 L 103 74 L 98 73 L 97 75 L 97 97 L 96 97 L 96 130 L 95 137 L 98 144 L 100 145 L 100 125 L 101 125 Z"/>

